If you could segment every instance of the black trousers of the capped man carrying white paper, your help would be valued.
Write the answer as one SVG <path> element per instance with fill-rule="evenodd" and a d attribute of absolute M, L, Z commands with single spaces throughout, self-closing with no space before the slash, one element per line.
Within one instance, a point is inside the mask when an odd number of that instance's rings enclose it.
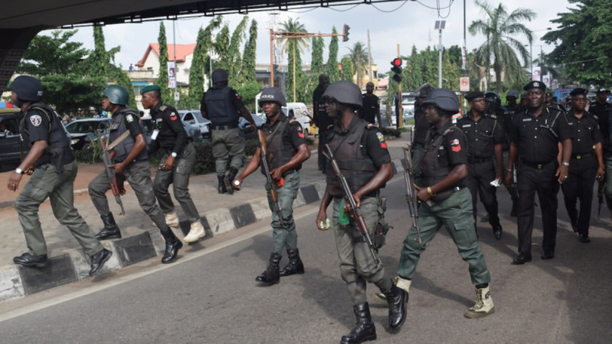
<path fill-rule="evenodd" d="M 489 223 L 491 226 L 499 225 L 498 203 L 497 196 L 495 195 L 496 187 L 490 184 L 495 179 L 493 158 L 483 162 L 469 163 L 468 172 L 466 183 L 468 184 L 469 193 L 472 194 L 474 220 L 476 220 L 477 215 L 476 203 L 478 196 L 480 196 L 480 202 L 489 213 Z"/>

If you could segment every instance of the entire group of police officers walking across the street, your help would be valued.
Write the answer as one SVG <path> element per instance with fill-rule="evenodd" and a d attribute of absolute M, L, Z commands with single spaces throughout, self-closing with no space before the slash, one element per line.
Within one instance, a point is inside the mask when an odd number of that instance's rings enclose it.
<path fill-rule="evenodd" d="M 253 129 L 255 122 L 240 95 L 228 86 L 225 70 L 212 72 L 212 82 L 212 88 L 203 94 L 200 110 L 211 120 L 218 193 L 240 190 L 245 179 L 258 169 L 269 176 L 266 190 L 272 212 L 271 255 L 266 269 L 255 280 L 270 286 L 279 283 L 280 277 L 304 274 L 293 202 L 299 190 L 300 168 L 310 157 L 305 133 L 298 122 L 281 110 L 286 106 L 282 90 L 263 89 L 259 106 L 267 121 L 260 129 L 255 154 L 243 168 L 245 141 L 238 119 L 244 117 Z M 147 86 L 141 91 L 143 107 L 151 110 L 155 125 L 148 144 L 140 111 L 125 106 L 129 100 L 127 90 L 110 85 L 103 92 L 102 109 L 112 114 L 105 152 L 113 172 L 109 175 L 103 170 L 89 184 L 89 195 L 103 223 L 97 234 L 74 208 L 77 165 L 60 127 L 62 119 L 41 102 L 42 84 L 33 77 L 21 76 L 13 81 L 11 89 L 12 102 L 23 111 L 20 132 L 29 152 L 10 175 L 7 188 L 15 192 L 23 174 L 32 176 L 15 206 L 28 246 L 28 252 L 13 259 L 16 264 L 47 266 L 38 209 L 40 203 L 51 198 L 58 221 L 69 228 L 90 256 L 90 275 L 99 272 L 112 255 L 100 241 L 122 237 L 106 192 L 113 189 L 113 193 L 124 194 L 125 181 L 165 239 L 162 263 L 176 260 L 182 241 L 195 242 L 206 236 L 188 190 L 195 151 L 177 120 L 177 110 L 161 102 L 159 86 Z M 414 174 L 416 182 L 412 186 L 420 203 L 418 230 L 416 226 L 408 230 L 399 252 L 397 272 L 391 277 L 377 259 L 378 247 L 371 241 L 371 237 L 381 235 L 375 233 L 375 228 L 385 225 L 380 190 L 393 176 L 387 143 L 374 124 L 381 122 L 381 114 L 373 89 L 374 85 L 368 83 L 362 94 L 354 83 L 330 83 L 326 75 L 321 75 L 313 94 L 313 121 L 319 128 L 318 166 L 326 178 L 315 222 L 321 231 L 334 228 L 340 276 L 356 316 L 356 326 L 341 338 L 341 343 L 376 339 L 367 282 L 378 287 L 380 293 L 376 297 L 388 304 L 389 328 L 400 329 L 406 320 L 409 288 L 420 255 L 442 225 L 468 263 L 474 284 L 476 300 L 464 315 L 482 318 L 494 312 L 491 274 L 478 242 L 476 208 L 480 198 L 493 236 L 501 239 L 496 187 L 506 186 L 512 199 L 510 214 L 517 217 L 518 253 L 511 262 L 517 265 L 532 260 L 535 193 L 542 211 L 543 260 L 554 258 L 559 189 L 564 194 L 573 230 L 582 243 L 591 240 L 589 223 L 595 181 L 602 185 L 606 203 L 612 207 L 609 130 L 612 106 L 606 103 L 605 89 L 598 92 L 597 101 L 588 111 L 587 90 L 583 88 L 572 91 L 571 101 L 565 104 L 567 108 L 553 102 L 546 85 L 539 81 L 526 84 L 520 97 L 516 91 L 508 92 L 506 107 L 501 106 L 501 99 L 494 92 L 472 91 L 465 95 L 469 111 L 453 124 L 452 116 L 460 111 L 455 92 L 424 85 L 417 89 L 415 135 L 409 146 L 414 163 L 409 173 Z M 151 180 L 149 156 L 155 151 L 165 155 Z M 170 196 L 170 184 L 190 223 L 190 231 L 182 241 L 172 230 L 179 225 L 179 219 Z M 285 251 L 289 261 L 281 268 Z"/>

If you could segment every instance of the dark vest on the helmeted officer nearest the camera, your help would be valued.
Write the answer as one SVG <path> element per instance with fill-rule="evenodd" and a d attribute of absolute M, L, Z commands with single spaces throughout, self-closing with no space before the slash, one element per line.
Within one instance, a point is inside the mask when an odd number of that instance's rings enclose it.
<path fill-rule="evenodd" d="M 365 130 L 375 127 L 372 127 L 363 119 L 359 119 L 359 123 L 355 127 L 356 130 L 349 132 L 346 136 L 337 135 L 332 130 L 328 143 L 329 148 L 334 153 L 338 167 L 340 167 L 340 171 L 345 176 L 346 182 L 353 193 L 367 184 L 378 172 L 376 165 L 366 154 L 365 148 L 360 147 Z M 334 170 L 330 165 L 327 165 L 326 174 L 335 178 Z M 381 186 L 381 188 L 383 187 L 384 185 Z M 337 183 L 332 184 L 329 193 L 334 197 L 343 196 L 342 189 Z"/>

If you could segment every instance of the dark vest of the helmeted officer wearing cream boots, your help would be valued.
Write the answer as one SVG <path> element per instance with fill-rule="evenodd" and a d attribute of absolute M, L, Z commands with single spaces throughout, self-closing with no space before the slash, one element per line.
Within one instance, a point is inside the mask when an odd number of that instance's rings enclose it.
<path fill-rule="evenodd" d="M 457 131 L 461 133 L 461 135 L 465 136 L 465 134 L 463 134 L 463 132 L 461 132 L 461 130 L 457 126 L 451 125 L 448 129 L 444 131 L 442 135 L 439 135 L 434 140 L 432 140 L 430 144 L 428 144 L 428 146 L 425 146 L 425 154 L 423 154 L 423 157 L 420 161 L 420 167 L 421 167 L 421 185 L 420 186 L 434 185 L 449 175 L 452 168 L 450 168 L 449 166 L 447 157 L 445 156 L 442 159 L 440 159 L 440 154 L 447 154 L 445 150 L 446 148 L 442 146 L 442 142 L 444 142 L 445 135 L 452 133 L 454 131 Z M 440 149 L 441 147 L 442 149 Z M 440 160 L 446 163 L 442 164 Z M 463 187 L 464 186 L 463 181 L 460 182 L 460 185 L 452 185 L 449 189 L 442 190 L 436 193 L 436 195 L 433 196 L 431 200 L 434 202 L 446 200 L 447 198 L 449 198 L 450 195 L 452 195 L 453 189 L 456 186 Z"/>

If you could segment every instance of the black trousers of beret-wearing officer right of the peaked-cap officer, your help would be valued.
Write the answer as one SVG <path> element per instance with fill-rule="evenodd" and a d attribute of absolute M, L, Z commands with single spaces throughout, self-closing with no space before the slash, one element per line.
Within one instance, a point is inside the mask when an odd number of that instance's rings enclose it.
<path fill-rule="evenodd" d="M 572 223 L 578 223 L 578 233 L 586 236 L 589 236 L 595 174 L 597 174 L 595 154 L 583 156 L 581 159 L 572 159 L 569 177 L 561 185 L 567 214 Z M 580 212 L 576 209 L 577 200 L 580 200 Z"/>

